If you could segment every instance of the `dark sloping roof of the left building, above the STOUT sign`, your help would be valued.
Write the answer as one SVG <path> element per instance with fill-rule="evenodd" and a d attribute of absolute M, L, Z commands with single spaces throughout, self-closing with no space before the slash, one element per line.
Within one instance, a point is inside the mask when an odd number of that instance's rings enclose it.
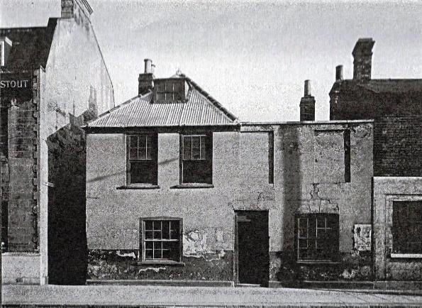
<path fill-rule="evenodd" d="M 12 48 L 5 67 L 9 70 L 45 67 L 50 53 L 57 18 L 50 18 L 46 27 L 0 28 L 0 37 L 7 36 Z"/>

